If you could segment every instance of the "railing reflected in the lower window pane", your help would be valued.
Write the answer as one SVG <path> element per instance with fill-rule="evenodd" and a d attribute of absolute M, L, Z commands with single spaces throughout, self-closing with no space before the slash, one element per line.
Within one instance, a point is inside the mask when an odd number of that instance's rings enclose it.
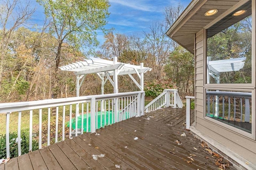
<path fill-rule="evenodd" d="M 228 100 L 226 103 L 225 98 Z M 214 117 L 222 117 L 222 119 L 230 120 L 233 117 L 233 120 L 236 121 L 238 118 L 237 109 L 240 110 L 240 121 L 241 122 L 250 122 L 250 99 L 252 98 L 252 93 L 250 92 L 226 92 L 226 91 L 207 91 L 206 92 L 206 115 Z M 222 102 L 220 102 L 222 100 Z M 231 103 L 233 105 L 234 112 L 231 113 Z M 222 104 L 222 108 L 219 106 Z M 225 115 L 225 106 L 228 105 L 228 116 Z M 212 107 L 211 107 L 212 106 Z M 243 110 L 244 108 L 244 110 Z M 222 114 L 220 115 L 220 111 Z"/>

